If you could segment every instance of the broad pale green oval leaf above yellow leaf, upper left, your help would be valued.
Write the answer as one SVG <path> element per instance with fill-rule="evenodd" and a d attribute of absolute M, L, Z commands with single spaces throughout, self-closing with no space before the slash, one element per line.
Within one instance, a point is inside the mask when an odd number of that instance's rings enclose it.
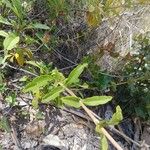
<path fill-rule="evenodd" d="M 19 43 L 19 40 L 19 36 L 16 36 L 14 33 L 9 34 L 3 42 L 4 49 L 11 50 L 15 48 L 17 43 Z"/>

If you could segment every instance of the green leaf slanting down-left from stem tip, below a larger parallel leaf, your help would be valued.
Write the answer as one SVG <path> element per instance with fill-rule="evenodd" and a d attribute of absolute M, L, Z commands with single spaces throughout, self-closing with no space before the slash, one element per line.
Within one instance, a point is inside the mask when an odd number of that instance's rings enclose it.
<path fill-rule="evenodd" d="M 64 91 L 64 88 L 61 86 L 53 88 L 49 93 L 47 93 L 42 98 L 42 103 L 48 103 L 52 100 L 55 100 L 63 91 Z"/>

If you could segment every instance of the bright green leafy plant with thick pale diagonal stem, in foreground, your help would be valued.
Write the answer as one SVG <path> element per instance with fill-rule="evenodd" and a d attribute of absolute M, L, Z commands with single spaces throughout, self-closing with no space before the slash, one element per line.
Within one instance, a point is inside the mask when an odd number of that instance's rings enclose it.
<path fill-rule="evenodd" d="M 96 131 L 103 135 L 102 139 L 106 136 L 112 142 L 113 139 L 109 138 L 107 131 L 103 127 L 112 124 L 116 125 L 122 120 L 120 107 L 117 106 L 116 113 L 110 121 L 103 120 L 102 124 L 86 106 L 103 105 L 111 101 L 112 97 L 92 96 L 84 98 L 79 96 L 79 93 L 72 90 L 72 88 L 78 88 L 78 85 L 81 85 L 80 87 L 82 87 L 79 76 L 86 67 L 86 63 L 78 65 L 73 71 L 71 71 L 67 78 L 65 78 L 57 69 L 54 69 L 49 72 L 49 74 L 41 75 L 33 79 L 24 87 L 23 92 L 32 92 L 34 95 L 32 100 L 34 108 L 38 108 L 39 103 L 52 103 L 59 107 L 64 107 L 64 105 L 75 108 L 82 107 L 96 124 Z M 106 144 L 105 140 L 103 143 Z M 102 144 L 102 146 L 106 147 L 105 144 Z M 120 147 L 117 143 L 116 145 Z"/>

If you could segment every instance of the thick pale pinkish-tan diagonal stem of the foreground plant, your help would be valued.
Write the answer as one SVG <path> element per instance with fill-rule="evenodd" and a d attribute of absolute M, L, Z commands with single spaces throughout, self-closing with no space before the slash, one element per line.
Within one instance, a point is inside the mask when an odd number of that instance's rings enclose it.
<path fill-rule="evenodd" d="M 59 83 L 71 96 L 77 97 L 73 91 L 65 87 L 62 83 Z M 94 124 L 97 125 L 99 123 L 99 120 L 95 117 L 96 114 L 92 112 L 89 108 L 87 108 L 82 101 L 80 101 L 80 105 L 85 110 L 85 112 L 89 115 L 89 117 L 93 120 Z M 113 144 L 113 146 L 117 150 L 123 150 L 123 148 L 112 138 L 112 136 L 105 130 L 105 128 L 101 128 L 101 132 L 107 137 L 107 139 Z"/>

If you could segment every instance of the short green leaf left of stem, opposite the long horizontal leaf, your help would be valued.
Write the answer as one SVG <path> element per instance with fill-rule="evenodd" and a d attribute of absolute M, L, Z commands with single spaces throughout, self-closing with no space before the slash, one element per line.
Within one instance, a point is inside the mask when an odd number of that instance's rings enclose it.
<path fill-rule="evenodd" d="M 80 107 L 80 98 L 75 97 L 75 96 L 66 96 L 66 97 L 62 97 L 61 98 L 62 102 L 68 106 L 72 106 L 75 108 L 79 108 Z"/>

